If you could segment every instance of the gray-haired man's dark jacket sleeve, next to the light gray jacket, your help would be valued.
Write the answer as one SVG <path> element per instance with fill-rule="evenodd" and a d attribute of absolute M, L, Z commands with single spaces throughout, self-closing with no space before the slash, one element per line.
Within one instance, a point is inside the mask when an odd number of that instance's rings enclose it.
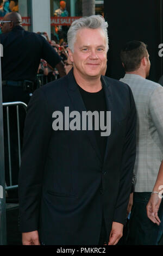
<path fill-rule="evenodd" d="M 126 137 L 124 139 L 118 197 L 115 205 L 114 222 L 126 223 L 127 206 L 131 192 L 133 169 L 136 157 L 136 108 L 133 94 L 129 88 L 130 111 L 126 124 Z"/>

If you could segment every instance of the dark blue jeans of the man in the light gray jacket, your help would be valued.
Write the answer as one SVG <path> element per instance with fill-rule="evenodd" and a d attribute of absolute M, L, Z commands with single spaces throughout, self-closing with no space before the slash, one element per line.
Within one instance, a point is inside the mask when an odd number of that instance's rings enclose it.
<path fill-rule="evenodd" d="M 154 224 L 147 217 L 146 205 L 150 197 L 151 192 L 134 192 L 133 207 L 129 220 L 128 245 L 158 245 L 161 232 L 160 226 Z M 162 202 L 158 215 L 162 220 Z"/>

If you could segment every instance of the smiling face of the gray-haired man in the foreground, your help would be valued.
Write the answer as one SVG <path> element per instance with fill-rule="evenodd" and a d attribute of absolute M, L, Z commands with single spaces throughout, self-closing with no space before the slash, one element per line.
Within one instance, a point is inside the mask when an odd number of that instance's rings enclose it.
<path fill-rule="evenodd" d="M 106 39 L 102 29 L 82 28 L 77 32 L 70 59 L 74 72 L 83 78 L 100 77 L 106 68 Z"/>

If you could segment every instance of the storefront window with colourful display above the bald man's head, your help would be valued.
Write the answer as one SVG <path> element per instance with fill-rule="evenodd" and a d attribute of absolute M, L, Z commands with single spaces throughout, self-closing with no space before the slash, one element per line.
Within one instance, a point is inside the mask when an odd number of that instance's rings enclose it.
<path fill-rule="evenodd" d="M 27 31 L 31 31 L 30 21 L 30 0 L 0 0 L 0 19 L 10 11 L 16 11 L 22 16 L 22 26 Z"/>

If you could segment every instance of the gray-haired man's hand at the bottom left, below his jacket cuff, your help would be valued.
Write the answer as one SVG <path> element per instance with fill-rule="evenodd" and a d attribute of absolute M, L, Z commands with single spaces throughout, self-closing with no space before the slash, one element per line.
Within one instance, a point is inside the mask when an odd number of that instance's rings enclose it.
<path fill-rule="evenodd" d="M 22 233 L 23 245 L 40 245 L 38 231 Z"/>

